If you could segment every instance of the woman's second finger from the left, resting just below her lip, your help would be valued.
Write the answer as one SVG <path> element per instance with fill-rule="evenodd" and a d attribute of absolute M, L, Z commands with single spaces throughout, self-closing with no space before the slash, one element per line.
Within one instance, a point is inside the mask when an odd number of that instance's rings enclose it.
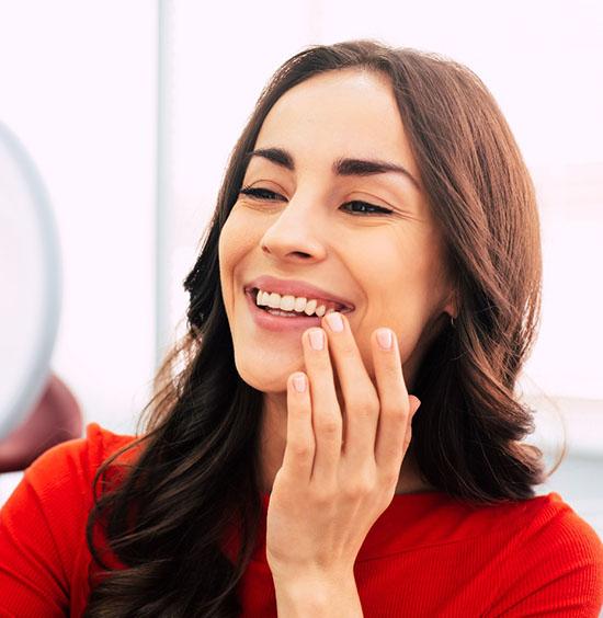
<path fill-rule="evenodd" d="M 312 347 L 311 341 L 322 337 L 322 348 Z M 325 487 L 337 482 L 341 456 L 342 420 L 329 358 L 329 344 L 321 328 L 308 329 L 302 336 L 306 373 L 310 385 L 311 420 L 316 449 L 311 480 Z"/>

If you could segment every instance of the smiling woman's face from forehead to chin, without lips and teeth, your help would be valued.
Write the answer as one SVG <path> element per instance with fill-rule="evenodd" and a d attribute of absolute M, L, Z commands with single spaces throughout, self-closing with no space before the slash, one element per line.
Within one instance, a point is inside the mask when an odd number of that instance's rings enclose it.
<path fill-rule="evenodd" d="M 219 239 L 240 376 L 260 391 L 282 393 L 288 375 L 305 370 L 303 331 L 266 330 L 252 318 L 244 287 L 270 275 L 354 306 L 346 318 L 373 380 L 371 334 L 392 329 L 412 388 L 426 344 L 448 319 L 444 312 L 455 310 L 441 233 L 388 79 L 346 69 L 294 87 L 261 127 L 254 150 L 269 148 L 286 151 L 289 164 L 251 157 L 243 187 L 264 191 L 239 194 Z M 341 159 L 379 160 L 407 173 L 359 173 L 359 165 L 335 173 Z"/>

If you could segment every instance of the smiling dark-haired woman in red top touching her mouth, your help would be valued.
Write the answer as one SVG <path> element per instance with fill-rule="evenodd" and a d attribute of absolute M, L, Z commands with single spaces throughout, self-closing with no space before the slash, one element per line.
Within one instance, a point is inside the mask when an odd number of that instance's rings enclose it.
<path fill-rule="evenodd" d="M 0 609 L 598 615 L 601 541 L 521 443 L 534 190 L 468 69 L 367 41 L 287 60 L 184 285 L 144 435 L 92 423 L 4 507 Z"/>

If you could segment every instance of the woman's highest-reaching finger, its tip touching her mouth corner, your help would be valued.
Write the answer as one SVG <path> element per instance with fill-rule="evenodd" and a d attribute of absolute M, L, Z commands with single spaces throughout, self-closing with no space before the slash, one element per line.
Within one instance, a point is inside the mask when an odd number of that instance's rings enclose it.
<path fill-rule="evenodd" d="M 342 331 L 335 331 L 330 320 L 341 318 Z M 345 316 L 333 312 L 325 318 L 329 351 L 341 386 L 345 455 L 355 462 L 375 458 L 375 434 L 379 420 L 379 398 L 368 376 L 354 333 Z"/>

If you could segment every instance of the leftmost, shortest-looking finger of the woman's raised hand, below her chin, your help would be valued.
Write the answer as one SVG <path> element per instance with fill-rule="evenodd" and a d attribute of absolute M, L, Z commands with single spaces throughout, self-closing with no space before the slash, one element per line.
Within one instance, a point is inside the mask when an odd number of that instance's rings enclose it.
<path fill-rule="evenodd" d="M 287 379 L 287 442 L 283 468 L 292 478 L 309 482 L 315 451 L 310 391 L 306 374 Z"/>

